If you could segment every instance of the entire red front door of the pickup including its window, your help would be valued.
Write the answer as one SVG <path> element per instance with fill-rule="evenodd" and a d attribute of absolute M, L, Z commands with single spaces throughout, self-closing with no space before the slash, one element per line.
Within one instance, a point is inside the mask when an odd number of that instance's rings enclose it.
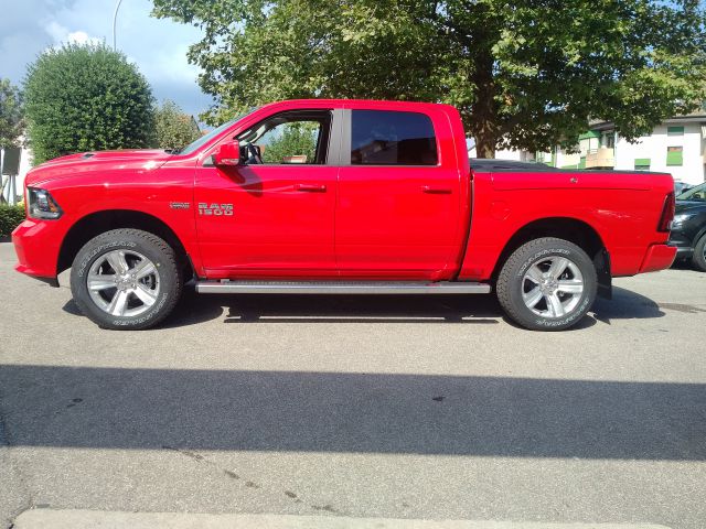
<path fill-rule="evenodd" d="M 196 170 L 196 229 L 210 278 L 335 274 L 331 129 L 329 110 L 280 112 L 238 134 L 244 164 Z"/>

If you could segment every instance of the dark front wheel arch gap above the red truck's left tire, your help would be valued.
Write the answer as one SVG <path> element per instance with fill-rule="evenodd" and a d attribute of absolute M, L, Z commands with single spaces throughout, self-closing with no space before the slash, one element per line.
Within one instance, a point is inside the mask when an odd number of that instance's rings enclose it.
<path fill-rule="evenodd" d="M 103 209 L 78 219 L 64 236 L 58 250 L 56 273 L 68 269 L 78 250 L 90 239 L 105 231 L 133 228 L 149 231 L 167 241 L 181 260 L 180 264 L 193 272 L 184 245 L 175 231 L 161 218 L 136 209 Z"/>

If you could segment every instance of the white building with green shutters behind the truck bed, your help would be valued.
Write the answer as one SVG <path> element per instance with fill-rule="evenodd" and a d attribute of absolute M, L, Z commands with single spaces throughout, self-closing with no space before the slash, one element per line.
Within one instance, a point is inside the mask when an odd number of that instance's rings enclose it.
<path fill-rule="evenodd" d="M 579 137 L 579 152 L 530 153 L 498 151 L 501 160 L 544 162 L 561 169 L 616 169 L 671 173 L 674 180 L 700 184 L 706 180 L 706 111 L 665 120 L 634 143 L 620 137 L 611 122 L 593 122 Z M 469 151 L 473 156 L 474 149 Z"/>

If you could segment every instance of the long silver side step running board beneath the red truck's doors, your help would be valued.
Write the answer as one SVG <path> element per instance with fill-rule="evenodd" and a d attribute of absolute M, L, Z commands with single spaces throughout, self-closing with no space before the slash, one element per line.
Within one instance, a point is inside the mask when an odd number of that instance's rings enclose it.
<path fill-rule="evenodd" d="M 490 284 L 402 281 L 197 281 L 202 294 L 488 294 Z"/>

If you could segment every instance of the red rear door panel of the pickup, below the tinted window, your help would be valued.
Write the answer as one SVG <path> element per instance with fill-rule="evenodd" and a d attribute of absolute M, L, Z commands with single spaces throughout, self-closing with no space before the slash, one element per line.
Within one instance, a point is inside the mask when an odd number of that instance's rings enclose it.
<path fill-rule="evenodd" d="M 459 194 L 458 170 L 341 168 L 341 274 L 438 279 L 458 253 Z"/>

